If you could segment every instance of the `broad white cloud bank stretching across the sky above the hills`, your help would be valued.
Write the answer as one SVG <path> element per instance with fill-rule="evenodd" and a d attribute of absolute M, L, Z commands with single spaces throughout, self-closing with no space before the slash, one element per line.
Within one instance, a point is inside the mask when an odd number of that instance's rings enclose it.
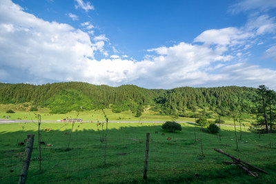
<path fill-rule="evenodd" d="M 244 28 L 206 30 L 193 43 L 175 43 L 151 48 L 142 61 L 124 55 L 105 57 L 105 34 L 94 36 L 65 23 L 38 19 L 10 0 L 0 2 L 0 81 L 48 83 L 85 81 L 94 84 L 121 85 L 132 83 L 144 88 L 175 88 L 190 85 L 266 84 L 276 89 L 276 71 L 258 65 L 239 63 L 257 30 L 263 24 Z M 263 17 L 263 20 L 273 19 Z M 266 34 L 270 31 L 264 31 Z M 257 45 L 256 41 L 256 45 Z M 249 46 L 246 46 L 249 45 Z M 266 50 L 266 57 L 275 58 L 275 46 Z"/>

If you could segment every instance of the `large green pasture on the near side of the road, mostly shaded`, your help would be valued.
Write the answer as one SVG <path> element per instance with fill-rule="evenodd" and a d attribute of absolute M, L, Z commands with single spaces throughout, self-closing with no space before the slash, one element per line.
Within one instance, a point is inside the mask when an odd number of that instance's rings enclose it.
<path fill-rule="evenodd" d="M 75 123 L 73 130 L 68 122 L 41 123 L 41 141 L 53 146 L 42 145 L 39 171 L 37 121 L 0 124 L 0 183 L 19 180 L 25 147 L 17 143 L 23 142 L 28 134 L 34 134 L 34 150 L 27 183 L 276 183 L 275 134 L 269 134 L 272 143 L 269 148 L 268 134 L 262 134 L 259 139 L 259 134 L 243 128 L 242 139 L 237 132 L 239 150 L 236 150 L 233 127 L 221 127 L 221 141 L 218 135 L 204 130 L 203 156 L 200 128 L 196 127 L 195 141 L 195 126 L 190 123 L 181 126 L 181 132 L 170 133 L 161 129 L 161 123 L 108 123 L 105 165 L 105 142 L 101 138 L 106 123 L 103 131 L 95 122 Z M 71 130 L 70 138 L 66 132 Z M 144 181 L 147 132 L 150 148 L 148 180 Z M 259 177 L 254 178 L 237 165 L 224 165 L 221 161 L 231 160 L 214 148 L 221 148 L 269 174 L 258 172 Z"/>

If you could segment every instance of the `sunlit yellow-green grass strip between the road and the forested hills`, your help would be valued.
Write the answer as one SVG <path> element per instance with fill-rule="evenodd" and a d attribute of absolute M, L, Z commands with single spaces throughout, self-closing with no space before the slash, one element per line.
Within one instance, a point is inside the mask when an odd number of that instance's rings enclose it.
<path fill-rule="evenodd" d="M 7 110 L 14 110 L 14 114 L 6 113 Z M 0 119 L 5 119 L 4 116 L 10 116 L 9 119 L 21 119 L 21 120 L 33 120 L 37 121 L 37 115 L 41 114 L 41 120 L 44 121 L 55 121 L 61 120 L 65 118 L 75 118 L 77 116 L 77 112 L 68 112 L 67 114 L 50 114 L 50 110 L 48 108 L 38 108 L 37 112 L 29 112 L 28 108 L 24 108 L 23 105 L 3 105 L 0 104 Z M 124 111 L 121 113 L 113 113 L 110 109 L 105 109 L 106 115 L 110 121 L 171 121 L 172 116 L 156 114 L 156 112 L 152 112 L 151 110 L 145 110 L 143 115 L 140 117 L 135 117 L 135 114 L 132 114 L 130 110 Z M 103 116 L 103 112 L 101 110 L 85 110 L 79 113 L 79 118 L 83 119 L 83 121 L 105 121 Z M 213 119 L 208 119 L 210 121 L 215 121 L 215 116 Z M 221 117 L 224 119 L 227 125 L 234 125 L 233 119 L 229 117 Z M 189 121 L 195 122 L 194 118 L 180 117 L 175 119 L 176 121 Z M 246 126 L 250 126 L 250 123 L 253 119 L 244 119 L 242 123 Z M 239 123 L 236 122 L 236 125 Z"/>

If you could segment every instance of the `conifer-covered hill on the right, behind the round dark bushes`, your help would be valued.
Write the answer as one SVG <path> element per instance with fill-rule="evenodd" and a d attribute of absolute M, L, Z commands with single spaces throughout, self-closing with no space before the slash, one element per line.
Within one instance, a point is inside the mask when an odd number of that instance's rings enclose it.
<path fill-rule="evenodd" d="M 219 88 L 175 88 L 166 90 L 155 99 L 157 104 L 161 105 L 161 112 L 172 114 L 175 110 L 184 110 L 186 108 L 197 112 L 197 107 L 210 110 L 220 109 L 221 116 L 230 115 L 230 109 L 227 104 L 237 99 L 242 105 L 243 112 L 250 112 L 253 105 L 253 99 L 257 96 L 255 88 L 246 87 L 219 87 Z M 206 118 L 212 116 L 202 112 Z"/>

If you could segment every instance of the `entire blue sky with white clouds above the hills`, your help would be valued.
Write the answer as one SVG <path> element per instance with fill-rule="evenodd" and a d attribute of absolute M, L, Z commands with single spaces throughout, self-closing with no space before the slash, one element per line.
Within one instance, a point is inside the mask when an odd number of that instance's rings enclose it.
<path fill-rule="evenodd" d="M 1 0 L 0 82 L 276 90 L 276 1 Z"/>

